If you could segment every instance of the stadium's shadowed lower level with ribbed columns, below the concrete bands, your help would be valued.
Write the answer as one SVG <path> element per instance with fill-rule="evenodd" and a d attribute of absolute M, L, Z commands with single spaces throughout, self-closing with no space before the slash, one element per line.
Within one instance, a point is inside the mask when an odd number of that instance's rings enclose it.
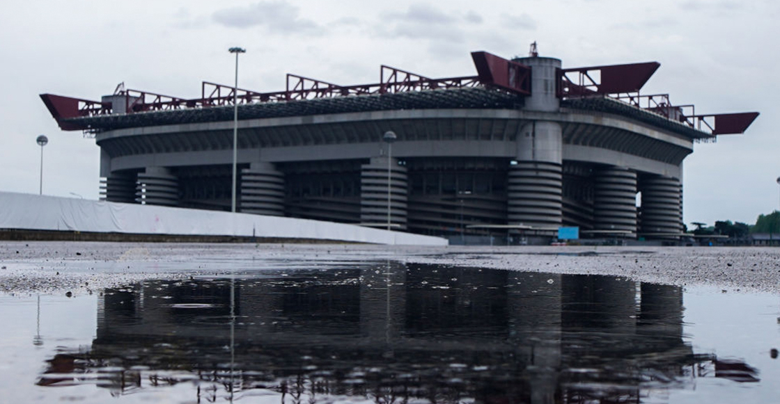
<path fill-rule="evenodd" d="M 598 163 L 406 158 L 239 164 L 237 210 L 436 236 L 679 237 L 678 178 Z M 230 210 L 231 166 L 113 172 L 111 202 Z M 389 215 L 388 215 L 388 206 Z"/>

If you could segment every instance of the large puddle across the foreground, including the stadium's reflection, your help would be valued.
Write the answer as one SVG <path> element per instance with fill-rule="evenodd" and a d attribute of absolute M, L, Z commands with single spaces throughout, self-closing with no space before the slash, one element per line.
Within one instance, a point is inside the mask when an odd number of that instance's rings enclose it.
<path fill-rule="evenodd" d="M 0 297 L 0 402 L 777 402 L 780 299 L 386 263 Z"/>

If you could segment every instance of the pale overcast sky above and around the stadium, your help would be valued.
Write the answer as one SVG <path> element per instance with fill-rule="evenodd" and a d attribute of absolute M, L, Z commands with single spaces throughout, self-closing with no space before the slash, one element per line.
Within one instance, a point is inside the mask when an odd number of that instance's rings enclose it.
<path fill-rule="evenodd" d="M 581 67 L 659 61 L 644 93 L 697 113 L 760 111 L 745 135 L 697 144 L 686 159 L 686 223 L 754 223 L 778 209 L 780 2 L 753 0 L 3 0 L 0 191 L 97 199 L 99 149 L 62 132 L 38 94 L 99 100 L 118 83 L 183 98 L 200 82 L 283 90 L 285 73 L 375 83 L 379 66 L 429 77 L 475 73 L 471 51 L 542 56 Z M 0 207 L 2 209 L 2 207 Z"/>

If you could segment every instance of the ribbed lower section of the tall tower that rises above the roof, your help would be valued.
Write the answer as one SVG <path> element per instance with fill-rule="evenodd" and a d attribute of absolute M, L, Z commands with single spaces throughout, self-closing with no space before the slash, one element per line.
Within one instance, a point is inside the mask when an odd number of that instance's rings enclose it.
<path fill-rule="evenodd" d="M 509 223 L 559 227 L 562 188 L 561 164 L 518 161 L 509 168 Z"/>

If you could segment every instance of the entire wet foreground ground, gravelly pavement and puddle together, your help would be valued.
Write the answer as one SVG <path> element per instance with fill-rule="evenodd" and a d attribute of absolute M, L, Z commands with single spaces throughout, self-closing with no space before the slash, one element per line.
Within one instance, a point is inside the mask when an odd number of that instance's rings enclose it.
<path fill-rule="evenodd" d="M 772 402 L 776 254 L 5 244 L 0 387 L 9 402 Z"/>

